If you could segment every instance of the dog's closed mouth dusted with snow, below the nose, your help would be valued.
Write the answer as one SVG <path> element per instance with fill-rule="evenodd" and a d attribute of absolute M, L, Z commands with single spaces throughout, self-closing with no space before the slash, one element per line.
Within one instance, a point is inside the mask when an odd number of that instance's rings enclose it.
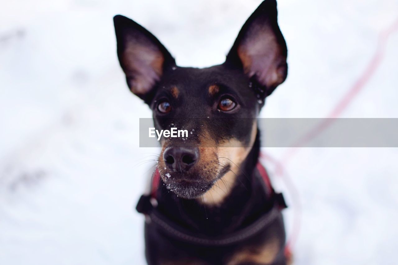
<path fill-rule="evenodd" d="M 221 179 L 225 173 L 230 170 L 230 166 L 224 166 L 218 174 L 213 175 L 212 180 L 207 181 L 209 177 L 204 173 L 203 175 L 191 175 L 181 173 L 165 173 L 162 175 L 162 179 L 166 188 L 175 193 L 178 197 L 183 199 L 196 199 L 209 191 L 214 183 Z"/>

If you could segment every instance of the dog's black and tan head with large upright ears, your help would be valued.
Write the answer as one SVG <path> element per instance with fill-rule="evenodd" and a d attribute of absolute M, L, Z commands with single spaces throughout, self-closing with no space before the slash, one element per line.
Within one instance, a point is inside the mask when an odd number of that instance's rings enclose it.
<path fill-rule="evenodd" d="M 115 16 L 117 55 L 127 84 L 152 109 L 156 129 L 185 129 L 162 139 L 158 170 L 174 193 L 205 194 L 217 181 L 233 182 L 250 152 L 256 117 L 287 76 L 287 48 L 275 0 L 265 0 L 243 25 L 223 64 L 178 67 L 146 29 Z"/>

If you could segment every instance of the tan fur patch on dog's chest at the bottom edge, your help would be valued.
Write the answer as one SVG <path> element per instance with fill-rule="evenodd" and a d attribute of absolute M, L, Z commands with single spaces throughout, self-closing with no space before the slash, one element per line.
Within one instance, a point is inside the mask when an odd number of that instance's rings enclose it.
<path fill-rule="evenodd" d="M 279 240 L 273 238 L 262 246 L 245 247 L 234 253 L 227 265 L 238 265 L 241 263 L 271 264 L 279 251 Z"/>

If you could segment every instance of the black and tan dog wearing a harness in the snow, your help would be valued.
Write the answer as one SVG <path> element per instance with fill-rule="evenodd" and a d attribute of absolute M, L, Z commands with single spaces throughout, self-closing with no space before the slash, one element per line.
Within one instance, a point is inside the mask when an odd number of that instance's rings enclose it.
<path fill-rule="evenodd" d="M 287 76 L 276 1 L 250 16 L 223 64 L 203 69 L 176 66 L 131 19 L 114 23 L 127 84 L 152 109 L 156 129 L 190 133 L 162 140 L 152 195 L 137 205 L 148 217 L 148 263 L 286 264 L 285 203 L 258 164 L 256 121 Z"/>

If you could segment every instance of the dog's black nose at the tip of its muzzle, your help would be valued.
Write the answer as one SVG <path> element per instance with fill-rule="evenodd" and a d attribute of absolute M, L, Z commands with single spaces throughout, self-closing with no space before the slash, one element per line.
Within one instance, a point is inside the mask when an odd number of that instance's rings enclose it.
<path fill-rule="evenodd" d="M 199 149 L 168 147 L 163 152 L 163 159 L 168 168 L 174 171 L 188 171 L 198 160 Z"/>

